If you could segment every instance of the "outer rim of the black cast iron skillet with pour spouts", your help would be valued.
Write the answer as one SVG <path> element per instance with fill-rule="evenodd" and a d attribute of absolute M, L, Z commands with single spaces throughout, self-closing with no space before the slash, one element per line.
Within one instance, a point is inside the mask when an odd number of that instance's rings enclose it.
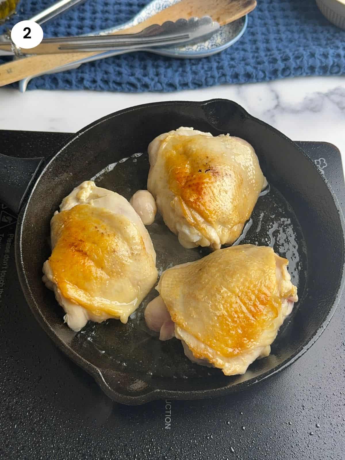
<path fill-rule="evenodd" d="M 298 144 L 293 142 L 290 138 L 288 138 L 285 134 L 282 132 L 278 131 L 276 128 L 271 127 L 269 124 L 265 123 L 264 121 L 259 120 L 256 117 L 253 117 L 250 115 L 245 109 L 242 108 L 239 104 L 237 104 L 234 101 L 229 101 L 228 99 L 224 98 L 213 98 L 209 99 L 206 101 L 161 101 L 161 102 L 155 102 L 155 103 L 150 103 L 150 104 L 140 104 L 137 106 L 129 107 L 127 109 L 122 109 L 117 112 L 114 112 L 109 115 L 105 115 L 104 117 L 90 123 L 86 127 L 82 128 L 80 131 L 75 133 L 74 135 L 70 136 L 66 141 L 63 147 L 57 151 L 57 153 L 53 154 L 50 158 L 48 158 L 45 167 L 43 168 L 42 172 L 38 176 L 38 178 L 35 180 L 35 183 L 33 184 L 32 189 L 30 190 L 30 193 L 28 197 L 25 199 L 25 205 L 23 206 L 19 216 L 18 216 L 18 221 L 17 221 L 17 227 L 16 227 L 16 234 L 15 234 L 15 259 L 16 259 L 16 265 L 17 265 L 17 273 L 18 273 L 18 278 L 23 290 L 23 294 L 25 296 L 25 299 L 27 303 L 29 304 L 29 307 L 31 311 L 33 312 L 36 320 L 40 323 L 40 326 L 45 330 L 45 332 L 48 334 L 48 336 L 53 340 L 53 342 L 58 346 L 58 348 L 63 351 L 72 361 L 74 361 L 77 365 L 79 365 L 81 368 L 83 368 L 86 372 L 92 375 L 92 377 L 97 381 L 98 385 L 101 387 L 101 389 L 113 400 L 115 400 L 118 403 L 124 403 L 128 405 L 138 405 L 138 404 L 143 404 L 143 403 L 148 403 L 150 401 L 154 401 L 156 399 L 178 399 L 178 400 L 196 400 L 196 399 L 206 399 L 206 398 L 211 398 L 211 397 L 220 397 L 220 396 L 225 396 L 229 394 L 233 394 L 236 391 L 242 391 L 245 388 L 253 385 L 254 383 L 258 383 L 262 380 L 267 379 L 271 375 L 276 374 L 277 372 L 280 372 L 282 369 L 287 368 L 289 365 L 291 365 L 293 362 L 296 362 L 301 356 L 304 355 L 304 353 L 311 348 L 311 346 L 316 342 L 317 339 L 322 335 L 323 331 L 326 329 L 328 326 L 329 322 L 331 321 L 334 312 L 336 311 L 338 305 L 339 305 L 339 300 L 344 288 L 345 284 L 345 276 L 344 276 L 344 266 L 345 266 L 345 221 L 344 221 L 344 215 L 341 210 L 341 207 L 339 205 L 339 201 L 337 196 L 335 196 L 334 191 L 332 190 L 330 184 L 328 183 L 327 179 L 321 175 L 323 182 L 326 184 L 326 187 L 328 189 L 328 193 L 330 194 L 332 200 L 334 201 L 334 205 L 337 209 L 337 212 L 339 214 L 339 222 L 342 228 L 342 236 L 343 236 L 343 247 L 342 247 L 342 273 L 341 273 L 341 279 L 339 283 L 339 288 L 336 294 L 335 301 L 331 308 L 327 311 L 325 316 L 322 319 L 321 325 L 319 328 L 317 328 L 314 332 L 314 334 L 311 336 L 311 338 L 308 340 L 308 342 L 301 346 L 296 353 L 293 353 L 292 356 L 288 357 L 285 361 L 282 363 L 278 364 L 275 368 L 270 369 L 269 371 L 257 376 L 253 377 L 249 380 L 246 380 L 244 382 L 240 382 L 236 385 L 230 385 L 230 386 L 224 386 L 220 388 L 213 388 L 213 389 L 206 389 L 206 390 L 192 390 L 192 391 L 180 391 L 180 390 L 164 390 L 161 388 L 154 388 L 154 387 L 149 387 L 149 390 L 145 394 L 141 394 L 138 396 L 128 396 L 124 395 L 118 391 L 115 391 L 114 389 L 110 388 L 110 386 L 107 384 L 105 378 L 104 378 L 104 369 L 98 368 L 97 366 L 93 365 L 91 362 L 86 361 L 84 357 L 82 357 L 80 354 L 78 354 L 73 348 L 71 348 L 66 342 L 64 342 L 62 339 L 60 339 L 55 332 L 53 331 L 52 327 L 50 326 L 49 322 L 46 321 L 46 318 L 42 315 L 39 306 L 37 305 L 35 301 L 35 296 L 30 288 L 30 283 L 29 280 L 26 276 L 26 273 L 23 270 L 23 253 L 22 253 L 22 237 L 23 237 L 23 225 L 25 221 L 25 216 L 28 210 L 29 202 L 35 192 L 37 184 L 40 182 L 41 177 L 43 174 L 45 174 L 47 168 L 50 166 L 52 161 L 54 161 L 58 155 L 60 155 L 63 150 L 65 150 L 70 144 L 75 142 L 81 135 L 84 133 L 88 132 L 90 129 L 98 126 L 99 124 L 108 121 L 112 118 L 115 118 L 117 116 L 121 116 L 125 113 L 130 113 L 135 110 L 140 110 L 143 108 L 147 107 L 155 107 L 155 106 L 179 106 L 183 105 L 184 107 L 186 104 L 190 104 L 193 106 L 206 106 L 207 104 L 213 104 L 217 102 L 226 102 L 230 103 L 233 106 L 235 106 L 237 109 L 239 109 L 243 115 L 245 115 L 247 118 L 256 121 L 259 123 L 261 126 L 264 126 L 266 128 L 269 128 L 270 131 L 275 132 L 280 138 L 284 139 L 287 141 L 289 144 L 291 144 L 295 149 L 299 151 L 299 154 L 303 155 L 312 165 L 312 167 L 317 171 L 319 174 L 318 168 L 316 167 L 315 163 L 311 160 L 309 155 L 305 153 L 304 150 L 302 150 Z"/>

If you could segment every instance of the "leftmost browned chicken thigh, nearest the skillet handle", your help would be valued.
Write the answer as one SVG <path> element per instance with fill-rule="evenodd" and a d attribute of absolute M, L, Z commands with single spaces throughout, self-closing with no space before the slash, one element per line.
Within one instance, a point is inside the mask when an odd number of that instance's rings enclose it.
<path fill-rule="evenodd" d="M 51 242 L 43 281 L 75 331 L 88 320 L 126 323 L 156 282 L 155 250 L 140 217 L 123 196 L 92 181 L 63 199 Z"/>

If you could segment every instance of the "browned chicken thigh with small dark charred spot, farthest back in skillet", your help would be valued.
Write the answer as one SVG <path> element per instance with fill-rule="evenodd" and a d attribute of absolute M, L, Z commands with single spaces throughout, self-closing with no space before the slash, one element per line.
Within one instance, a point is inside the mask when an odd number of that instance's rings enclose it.
<path fill-rule="evenodd" d="M 235 242 L 267 185 L 253 147 L 180 127 L 155 138 L 148 152 L 147 188 L 182 246 Z"/>

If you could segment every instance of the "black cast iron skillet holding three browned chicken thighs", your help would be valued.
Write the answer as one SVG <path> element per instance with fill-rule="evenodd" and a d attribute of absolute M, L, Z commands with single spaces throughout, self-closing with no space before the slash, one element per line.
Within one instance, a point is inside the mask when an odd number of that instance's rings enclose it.
<path fill-rule="evenodd" d="M 144 305 L 126 325 L 115 320 L 89 323 L 76 334 L 63 325 L 63 311 L 41 281 L 42 264 L 50 251 L 49 221 L 62 198 L 83 180 L 96 177 L 98 185 L 129 199 L 135 190 L 145 188 L 149 142 L 179 126 L 214 135 L 229 132 L 253 144 L 271 188 L 259 198 L 241 243 L 270 245 L 288 257 L 293 282 L 298 284 L 299 303 L 279 331 L 270 357 L 254 362 L 244 375 L 225 377 L 219 369 L 192 364 L 177 339 L 160 342 L 145 328 Z M 24 163 L 2 157 L 1 161 L 2 171 L 11 174 L 1 178 L 0 196 L 18 211 L 41 159 Z M 105 116 L 69 139 L 27 195 L 16 234 L 17 270 L 25 297 L 57 346 L 117 402 L 197 399 L 241 390 L 300 357 L 320 336 L 338 304 L 344 219 L 333 191 L 297 145 L 234 102 L 145 104 Z M 207 253 L 181 248 L 159 217 L 148 229 L 159 270 Z M 152 291 L 148 299 L 154 296 Z"/>

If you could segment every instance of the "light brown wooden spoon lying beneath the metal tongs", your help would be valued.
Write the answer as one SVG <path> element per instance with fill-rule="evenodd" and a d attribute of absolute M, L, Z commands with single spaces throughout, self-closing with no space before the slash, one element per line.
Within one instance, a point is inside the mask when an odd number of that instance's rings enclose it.
<path fill-rule="evenodd" d="M 136 33 L 152 24 L 162 24 L 165 21 L 177 21 L 179 18 L 211 16 L 221 26 L 229 24 L 256 6 L 256 0 L 181 0 L 165 10 L 136 26 L 119 30 L 112 35 Z M 30 75 L 44 74 L 57 67 L 79 61 L 85 57 L 97 55 L 99 52 L 76 52 L 66 54 L 50 54 L 23 57 L 0 65 L 0 86 L 9 85 Z"/>

